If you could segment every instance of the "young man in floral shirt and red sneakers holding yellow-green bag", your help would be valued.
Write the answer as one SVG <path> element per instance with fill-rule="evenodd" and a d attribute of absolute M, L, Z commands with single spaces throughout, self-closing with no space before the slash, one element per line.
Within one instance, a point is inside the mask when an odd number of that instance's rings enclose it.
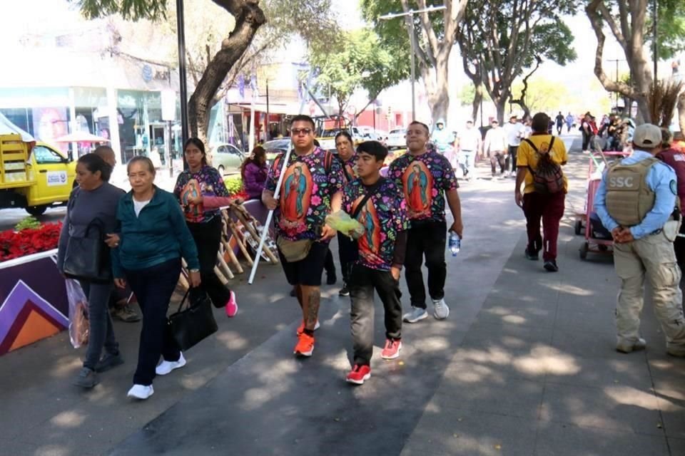
<path fill-rule="evenodd" d="M 345 186 L 342 207 L 356 214 L 365 232 L 357 239 L 358 258 L 350 273 L 354 367 L 347 381 L 361 385 L 371 376 L 373 353 L 373 291 L 385 309 L 385 348 L 381 358 L 394 359 L 402 348 L 400 271 L 407 244 L 407 204 L 402 187 L 380 176 L 387 149 L 377 141 L 357 147 L 359 178 Z M 367 197 L 367 195 L 369 195 Z"/>

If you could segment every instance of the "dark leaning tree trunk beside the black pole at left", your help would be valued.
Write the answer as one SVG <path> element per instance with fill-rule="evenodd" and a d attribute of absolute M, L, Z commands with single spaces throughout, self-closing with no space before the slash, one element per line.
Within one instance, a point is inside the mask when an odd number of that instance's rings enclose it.
<path fill-rule="evenodd" d="M 191 136 L 206 142 L 209 129 L 209 115 L 213 98 L 226 75 L 236 61 L 243 56 L 252 42 L 255 32 L 265 24 L 264 12 L 252 1 L 215 1 L 235 17 L 235 28 L 221 43 L 221 49 L 212 58 L 202 78 L 188 100 L 188 122 Z"/>

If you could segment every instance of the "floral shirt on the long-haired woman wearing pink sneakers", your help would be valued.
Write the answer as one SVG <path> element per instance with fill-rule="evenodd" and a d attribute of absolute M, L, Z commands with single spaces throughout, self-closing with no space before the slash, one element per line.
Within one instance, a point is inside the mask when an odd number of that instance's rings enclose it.
<path fill-rule="evenodd" d="M 173 188 L 173 195 L 181 203 L 188 222 L 209 222 L 220 214 L 219 209 L 205 210 L 202 204 L 188 204 L 188 197 L 197 194 L 205 197 L 230 196 L 219 172 L 209 165 L 201 167 L 198 172 L 181 172 L 176 180 L 176 187 Z"/>

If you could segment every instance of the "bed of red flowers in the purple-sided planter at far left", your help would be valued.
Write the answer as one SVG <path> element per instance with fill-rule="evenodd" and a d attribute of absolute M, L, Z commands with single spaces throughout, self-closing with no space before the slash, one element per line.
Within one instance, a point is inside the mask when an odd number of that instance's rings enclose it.
<path fill-rule="evenodd" d="M 55 249 L 59 241 L 62 222 L 46 223 L 40 228 L 11 229 L 0 232 L 0 261 L 37 254 Z"/>

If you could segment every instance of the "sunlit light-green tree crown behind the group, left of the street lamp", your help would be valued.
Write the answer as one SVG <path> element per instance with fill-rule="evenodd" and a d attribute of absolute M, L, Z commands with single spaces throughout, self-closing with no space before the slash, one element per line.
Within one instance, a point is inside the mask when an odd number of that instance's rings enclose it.
<path fill-rule="evenodd" d="M 309 61 L 318 71 L 317 88 L 330 91 L 341 111 L 358 88 L 367 90 L 372 100 L 404 76 L 397 69 L 397 57 L 382 48 L 378 36 L 368 29 L 345 32 L 339 43 L 313 48 Z"/>

